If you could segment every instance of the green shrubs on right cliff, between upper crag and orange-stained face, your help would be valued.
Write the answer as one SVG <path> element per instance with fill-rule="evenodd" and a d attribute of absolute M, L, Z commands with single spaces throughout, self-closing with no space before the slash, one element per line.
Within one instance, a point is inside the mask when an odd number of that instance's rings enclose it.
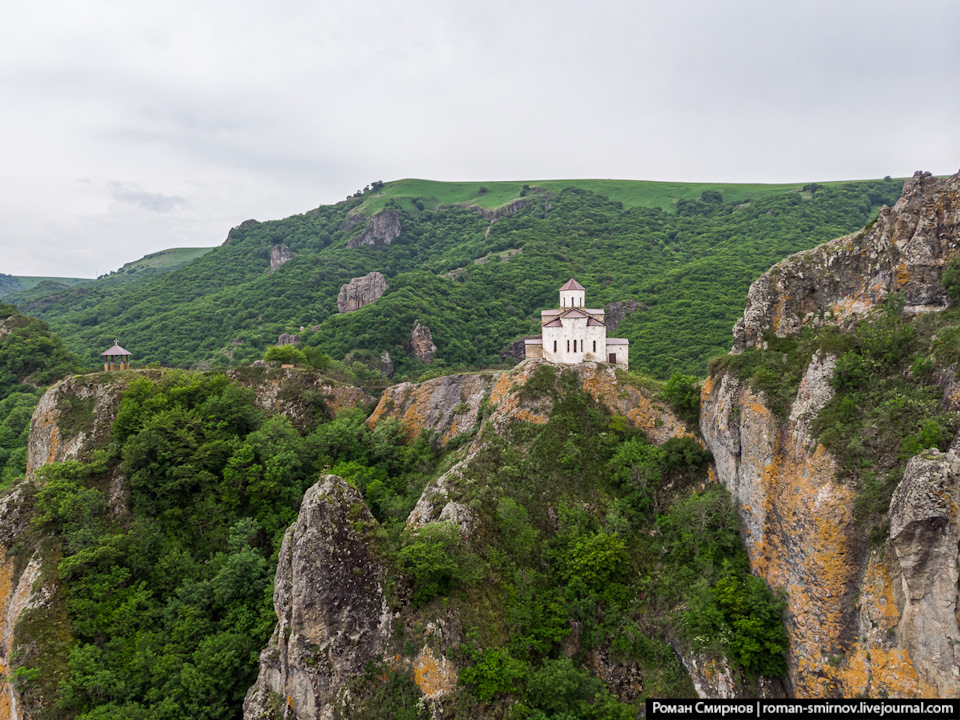
<path fill-rule="evenodd" d="M 960 429 L 957 398 L 945 394 L 957 389 L 960 307 L 915 318 L 902 310 L 903 298 L 892 295 L 844 331 L 769 333 L 765 349 L 710 363 L 712 375 L 732 372 L 785 417 L 810 360 L 837 358 L 830 381 L 835 394 L 812 430 L 837 459 L 839 479 L 856 489 L 857 521 L 876 543 L 886 539 L 890 498 L 906 461 L 926 448 L 947 450 Z"/>

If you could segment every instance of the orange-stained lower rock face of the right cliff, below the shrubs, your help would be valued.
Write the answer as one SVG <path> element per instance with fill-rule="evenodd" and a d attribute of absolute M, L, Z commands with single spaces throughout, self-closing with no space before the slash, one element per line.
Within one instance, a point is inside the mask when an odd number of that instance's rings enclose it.
<path fill-rule="evenodd" d="M 912 458 L 889 539 L 866 548 L 853 491 L 809 435 L 832 397 L 834 364 L 813 358 L 786 418 L 726 374 L 708 378 L 701 397 L 701 429 L 746 525 L 751 567 L 787 594 L 792 694 L 954 696 L 960 459 L 936 450 Z"/>

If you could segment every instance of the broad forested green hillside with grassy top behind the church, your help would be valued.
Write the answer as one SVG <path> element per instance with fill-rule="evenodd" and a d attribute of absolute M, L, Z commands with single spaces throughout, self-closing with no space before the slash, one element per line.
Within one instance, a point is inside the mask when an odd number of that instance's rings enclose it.
<path fill-rule="evenodd" d="M 415 321 L 438 347 L 431 371 L 498 364 L 505 346 L 538 331 L 539 310 L 554 306 L 557 288 L 576 277 L 591 306 L 640 303 L 616 330 L 631 341 L 633 368 L 661 378 L 702 375 L 707 359 L 729 348 L 758 275 L 787 254 L 862 227 L 896 201 L 902 181 L 544 181 L 483 183 L 485 192 L 480 183 L 376 185 L 302 215 L 234 228 L 226 245 L 156 277 L 108 276 L 16 301 L 91 366 L 114 338 L 135 363 L 249 362 L 280 333 L 304 327 L 305 347 L 370 365 L 388 352 L 400 376 L 417 376 L 425 366 L 403 349 Z M 521 198 L 522 207 L 493 224 L 465 207 Z M 347 248 L 364 216 L 388 208 L 399 212 L 399 237 Z M 358 215 L 361 222 L 345 222 Z M 294 257 L 270 273 L 277 244 Z M 509 259 L 476 262 L 491 253 Z M 338 315 L 340 287 L 372 271 L 387 277 L 387 293 Z"/>

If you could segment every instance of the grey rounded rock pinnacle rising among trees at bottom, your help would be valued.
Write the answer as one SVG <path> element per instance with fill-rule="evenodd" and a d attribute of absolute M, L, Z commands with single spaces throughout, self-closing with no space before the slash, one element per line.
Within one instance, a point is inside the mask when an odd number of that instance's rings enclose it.
<path fill-rule="evenodd" d="M 330 717 L 331 702 L 366 664 L 385 654 L 393 615 L 386 565 L 363 497 L 327 475 L 307 490 L 280 548 L 277 627 L 260 655 L 245 720 Z"/>

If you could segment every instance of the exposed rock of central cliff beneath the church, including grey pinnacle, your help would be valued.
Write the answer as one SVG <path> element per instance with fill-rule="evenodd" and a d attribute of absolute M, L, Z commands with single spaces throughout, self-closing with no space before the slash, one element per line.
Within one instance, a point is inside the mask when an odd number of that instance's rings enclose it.
<path fill-rule="evenodd" d="M 474 434 L 462 459 L 424 489 L 407 519 L 409 530 L 453 523 L 468 546 L 491 531 L 485 527 L 489 520 L 479 517 L 465 496 L 477 482 L 476 467 L 487 462 L 485 453 L 498 437 L 517 423 L 547 423 L 557 397 L 524 390 L 537 382 L 538 369 L 547 368 L 556 369 L 529 360 L 506 372 L 455 375 L 387 389 L 370 418 L 372 425 L 393 418 L 410 436 L 425 429 L 443 440 Z M 587 363 L 567 372 L 579 390 L 645 429 L 654 442 L 688 434 L 651 392 L 618 379 L 613 368 Z M 553 377 L 552 370 L 549 375 Z M 304 498 L 281 550 L 274 594 L 278 624 L 261 655 L 260 678 L 247 696 L 247 720 L 334 717 L 335 708 L 351 702 L 351 680 L 363 674 L 367 662 L 378 659 L 409 672 L 432 716 L 446 717 L 446 698 L 458 689 L 462 669 L 451 657 L 457 657 L 465 641 L 463 613 L 475 611 L 462 601 L 418 609 L 402 583 L 396 604 L 385 602 L 377 537 L 363 498 L 339 478 L 324 478 Z M 411 637 L 412 650 L 403 650 Z M 576 641 L 568 646 L 575 648 Z M 590 666 L 620 697 L 637 697 L 643 682 L 637 666 L 619 662 L 608 651 L 593 652 L 590 658 Z M 729 675 L 727 681 L 734 684 Z"/>

